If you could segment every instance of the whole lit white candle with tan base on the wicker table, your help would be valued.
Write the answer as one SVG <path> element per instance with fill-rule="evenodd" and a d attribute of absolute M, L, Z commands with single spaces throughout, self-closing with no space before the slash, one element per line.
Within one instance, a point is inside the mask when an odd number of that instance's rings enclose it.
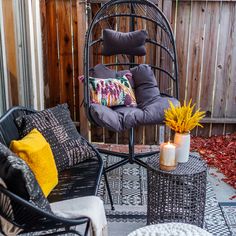
<path fill-rule="evenodd" d="M 176 168 L 175 145 L 168 142 L 160 146 L 160 169 L 174 170 Z"/>

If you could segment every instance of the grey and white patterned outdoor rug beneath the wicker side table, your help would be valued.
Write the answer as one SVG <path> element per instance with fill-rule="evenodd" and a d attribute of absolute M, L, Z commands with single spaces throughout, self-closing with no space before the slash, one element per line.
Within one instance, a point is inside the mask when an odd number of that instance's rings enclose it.
<path fill-rule="evenodd" d="M 119 160 L 118 157 L 104 156 L 106 165 Z M 126 236 L 133 230 L 146 225 L 147 215 L 147 173 L 143 167 L 127 164 L 108 173 L 108 179 L 115 204 L 111 211 L 108 195 L 102 182 L 99 195 L 105 202 L 109 235 Z M 228 212 L 216 200 L 210 183 L 207 184 L 205 229 L 216 236 L 229 236 L 232 233 L 227 225 Z M 229 217 L 230 218 L 230 217 Z M 234 215 L 235 226 L 235 215 Z"/>

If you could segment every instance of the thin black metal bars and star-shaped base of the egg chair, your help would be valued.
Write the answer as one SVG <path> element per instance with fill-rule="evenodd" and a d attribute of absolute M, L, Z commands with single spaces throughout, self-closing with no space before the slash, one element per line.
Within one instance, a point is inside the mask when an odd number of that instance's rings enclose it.
<path fill-rule="evenodd" d="M 124 12 L 116 12 L 114 9 L 117 9 L 117 7 L 121 5 L 127 5 L 130 7 L 129 13 Z M 138 9 L 138 10 L 136 10 Z M 140 12 L 144 12 L 145 14 L 141 14 Z M 140 14 L 139 14 L 140 13 Z M 167 37 L 167 41 L 170 44 L 170 47 L 167 47 L 163 41 L 159 42 L 157 39 L 150 39 L 148 38 L 146 40 L 146 43 L 150 43 L 152 45 L 155 45 L 156 48 L 160 48 L 163 50 L 166 55 L 169 57 L 169 60 L 172 63 L 171 71 L 168 71 L 165 68 L 162 68 L 160 66 L 157 66 L 156 64 L 150 64 L 152 69 L 155 73 L 164 73 L 173 83 L 175 84 L 173 89 L 175 90 L 175 97 L 178 98 L 178 63 L 177 63 L 177 54 L 176 54 L 176 45 L 175 45 L 175 39 L 173 32 L 171 30 L 171 26 L 167 20 L 167 18 L 164 16 L 162 11 L 151 1 L 149 0 L 111 0 L 107 3 L 105 3 L 100 10 L 96 13 L 95 17 L 91 21 L 88 31 L 86 33 L 85 37 L 85 47 L 84 47 L 84 106 L 86 110 L 86 115 L 90 122 L 96 124 L 96 122 L 93 120 L 93 117 L 90 114 L 90 92 L 89 92 L 89 71 L 92 67 L 95 65 L 92 65 L 92 60 L 90 57 L 92 48 L 96 45 L 101 46 L 102 45 L 102 37 L 99 39 L 93 40 L 93 30 L 95 29 L 95 26 L 99 24 L 101 21 L 104 20 L 111 20 L 112 18 L 119 18 L 119 17 L 129 17 L 130 22 L 130 31 L 136 30 L 135 27 L 135 20 L 137 19 L 143 19 L 147 22 L 152 22 L 155 24 L 155 27 L 159 28 L 162 32 L 162 35 L 165 34 Z M 113 29 L 115 30 L 115 29 Z M 162 36 L 164 38 L 164 36 Z M 167 43 L 168 44 L 168 43 Z M 132 68 L 134 66 L 139 65 L 138 63 L 135 63 L 135 57 L 130 56 L 130 60 L 127 63 L 109 63 L 104 64 L 105 66 L 127 66 L 128 68 Z M 159 80 L 160 83 L 160 80 Z M 160 85 L 160 84 L 159 84 Z M 160 86 L 159 86 L 160 87 Z M 162 91 L 161 91 L 162 92 Z M 169 96 L 169 94 L 166 94 L 164 92 L 161 93 L 162 95 Z M 96 124 L 98 125 L 98 124 Z M 141 165 L 143 167 L 147 167 L 147 164 L 142 161 L 141 159 L 147 156 L 151 156 L 153 154 L 156 154 L 157 152 L 148 152 L 148 153 L 135 153 L 134 152 L 134 128 L 131 128 L 129 130 L 129 152 L 128 153 L 117 153 L 113 151 L 98 149 L 101 153 L 108 154 L 108 155 L 115 155 L 118 157 L 121 157 L 122 160 L 107 167 L 105 169 L 105 172 L 112 171 L 122 165 L 125 165 L 127 163 L 136 163 L 138 165 Z M 109 188 L 108 188 L 109 189 Z M 111 205 L 113 206 L 112 202 L 112 196 L 109 193 Z"/>

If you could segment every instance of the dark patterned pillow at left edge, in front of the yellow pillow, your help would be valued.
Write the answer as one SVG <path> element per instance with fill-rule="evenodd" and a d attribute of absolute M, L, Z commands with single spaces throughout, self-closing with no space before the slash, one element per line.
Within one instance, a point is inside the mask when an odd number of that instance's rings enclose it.
<path fill-rule="evenodd" d="M 0 143 L 0 178 L 9 191 L 31 202 L 38 208 L 52 212 L 48 200 L 24 160 Z"/>

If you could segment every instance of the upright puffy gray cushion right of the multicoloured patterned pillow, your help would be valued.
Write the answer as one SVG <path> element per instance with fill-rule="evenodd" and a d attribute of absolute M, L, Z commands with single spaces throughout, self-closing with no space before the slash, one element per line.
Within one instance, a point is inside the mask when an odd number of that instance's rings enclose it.
<path fill-rule="evenodd" d="M 130 69 L 133 80 L 135 97 L 138 107 L 144 108 L 146 105 L 156 101 L 160 95 L 156 77 L 150 66 L 141 64 Z"/>

